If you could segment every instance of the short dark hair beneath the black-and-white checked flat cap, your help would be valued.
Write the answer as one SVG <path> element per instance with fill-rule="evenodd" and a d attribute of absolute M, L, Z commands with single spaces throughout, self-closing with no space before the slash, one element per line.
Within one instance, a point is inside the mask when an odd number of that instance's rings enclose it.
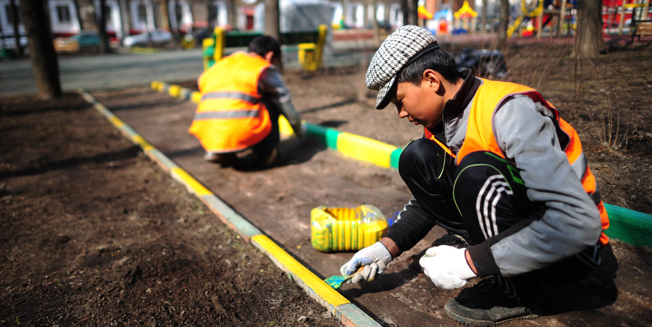
<path fill-rule="evenodd" d="M 462 79 L 462 75 L 457 70 L 453 56 L 448 54 L 446 50 L 437 49 L 404 67 L 397 76 L 397 82 L 410 82 L 415 86 L 421 86 L 424 71 L 428 69 L 439 72 L 439 74 L 442 74 L 446 78 L 446 81 L 451 83 L 457 83 Z"/>

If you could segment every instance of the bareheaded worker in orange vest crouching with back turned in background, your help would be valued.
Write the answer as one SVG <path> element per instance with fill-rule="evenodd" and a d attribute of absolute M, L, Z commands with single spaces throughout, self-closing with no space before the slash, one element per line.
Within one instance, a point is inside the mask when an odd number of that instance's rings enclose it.
<path fill-rule="evenodd" d="M 258 36 L 248 52 L 226 56 L 199 76 L 201 102 L 189 132 L 206 150 L 206 160 L 239 165 L 237 153 L 250 149 L 252 156 L 245 163 L 274 165 L 280 158 L 279 114 L 301 135 L 301 117 L 281 79 L 279 63 L 279 42 Z"/>

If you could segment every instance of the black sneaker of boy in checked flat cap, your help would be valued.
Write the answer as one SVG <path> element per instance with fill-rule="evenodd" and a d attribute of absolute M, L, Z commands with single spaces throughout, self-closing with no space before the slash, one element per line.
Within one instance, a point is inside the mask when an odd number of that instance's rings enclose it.
<path fill-rule="evenodd" d="M 535 319 L 540 302 L 524 306 L 515 297 L 504 293 L 494 277 L 483 279 L 471 288 L 465 288 L 444 309 L 449 317 L 468 326 L 496 326 L 513 319 Z"/>

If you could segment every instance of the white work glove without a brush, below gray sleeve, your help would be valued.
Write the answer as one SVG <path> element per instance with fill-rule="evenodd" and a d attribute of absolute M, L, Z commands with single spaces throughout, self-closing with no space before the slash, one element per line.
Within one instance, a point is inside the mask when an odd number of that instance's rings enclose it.
<path fill-rule="evenodd" d="M 460 288 L 466 284 L 466 279 L 477 276 L 466 262 L 466 249 L 453 246 L 431 247 L 419 259 L 419 264 L 437 287 L 447 290 Z"/>

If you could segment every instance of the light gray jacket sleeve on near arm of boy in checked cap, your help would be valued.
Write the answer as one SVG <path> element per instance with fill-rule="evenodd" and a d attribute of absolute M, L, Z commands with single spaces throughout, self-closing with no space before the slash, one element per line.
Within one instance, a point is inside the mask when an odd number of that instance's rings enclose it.
<path fill-rule="evenodd" d="M 540 220 L 491 245 L 502 275 L 533 271 L 579 253 L 600 237 L 600 213 L 560 148 L 552 113 L 527 96 L 515 96 L 496 113 L 497 143 L 516 163 L 533 202 L 546 206 Z"/>

